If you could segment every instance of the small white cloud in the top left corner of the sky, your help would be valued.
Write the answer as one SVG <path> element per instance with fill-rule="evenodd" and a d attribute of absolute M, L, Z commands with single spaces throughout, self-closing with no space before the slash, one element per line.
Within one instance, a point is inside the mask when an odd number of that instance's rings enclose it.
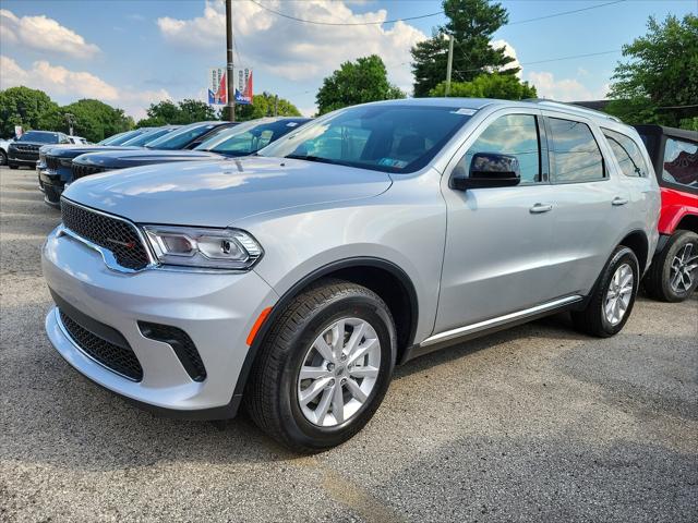
<path fill-rule="evenodd" d="M 94 44 L 72 29 L 45 15 L 16 16 L 0 9 L 0 39 L 41 52 L 68 54 L 73 58 L 92 58 L 99 52 Z"/>

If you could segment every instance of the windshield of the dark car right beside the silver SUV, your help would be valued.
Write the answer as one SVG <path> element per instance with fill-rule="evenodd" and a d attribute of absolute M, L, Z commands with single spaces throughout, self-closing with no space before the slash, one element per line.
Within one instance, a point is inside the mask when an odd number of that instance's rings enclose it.
<path fill-rule="evenodd" d="M 308 119 L 255 120 L 226 129 L 202 143 L 197 150 L 227 156 L 248 156 L 290 133 Z"/>

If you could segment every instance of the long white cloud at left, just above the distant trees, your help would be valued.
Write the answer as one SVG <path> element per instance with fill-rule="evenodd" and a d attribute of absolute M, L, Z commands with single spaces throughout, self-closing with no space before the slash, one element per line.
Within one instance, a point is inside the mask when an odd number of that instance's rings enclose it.
<path fill-rule="evenodd" d="M 96 98 L 125 110 L 139 119 L 153 102 L 171 99 L 165 89 L 119 89 L 86 71 L 70 71 L 61 65 L 51 65 L 38 60 L 31 69 L 23 69 L 13 59 L 0 56 L 0 89 L 24 85 L 41 89 L 51 98 L 75 101 L 80 98 Z"/>

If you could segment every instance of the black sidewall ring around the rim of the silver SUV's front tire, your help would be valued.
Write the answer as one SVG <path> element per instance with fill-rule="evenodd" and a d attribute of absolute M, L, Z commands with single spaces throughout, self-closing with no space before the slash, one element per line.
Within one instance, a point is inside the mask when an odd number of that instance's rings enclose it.
<path fill-rule="evenodd" d="M 336 427 L 318 427 L 308 419 L 298 403 L 298 375 L 311 344 L 327 326 L 341 317 L 356 317 L 368 321 L 376 331 L 381 343 L 381 369 L 376 384 L 361 410 Z M 396 341 L 393 320 L 385 305 L 365 295 L 342 296 L 308 318 L 293 340 L 281 377 L 279 413 L 282 426 L 291 439 L 311 448 L 337 446 L 358 433 L 373 416 L 390 381 L 395 366 Z"/>

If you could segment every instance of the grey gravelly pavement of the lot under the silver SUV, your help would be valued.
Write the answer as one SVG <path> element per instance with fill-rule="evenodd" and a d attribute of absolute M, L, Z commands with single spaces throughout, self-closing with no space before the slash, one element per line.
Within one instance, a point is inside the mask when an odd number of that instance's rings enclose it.
<path fill-rule="evenodd" d="M 60 215 L 0 170 L 0 521 L 697 521 L 698 296 L 610 340 L 557 316 L 398 368 L 342 447 L 296 457 L 245 417 L 163 419 L 44 335 Z"/>

